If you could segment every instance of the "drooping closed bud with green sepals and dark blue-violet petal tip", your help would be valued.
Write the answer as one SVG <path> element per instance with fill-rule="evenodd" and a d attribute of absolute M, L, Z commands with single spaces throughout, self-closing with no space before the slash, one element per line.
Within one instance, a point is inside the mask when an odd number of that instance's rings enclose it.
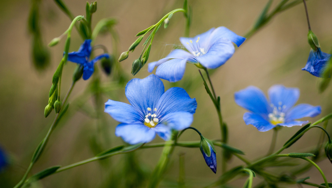
<path fill-rule="evenodd" d="M 201 136 L 200 149 L 207 163 L 207 166 L 210 167 L 212 172 L 216 173 L 217 171 L 217 159 L 215 154 L 215 149 L 213 143 Z"/>

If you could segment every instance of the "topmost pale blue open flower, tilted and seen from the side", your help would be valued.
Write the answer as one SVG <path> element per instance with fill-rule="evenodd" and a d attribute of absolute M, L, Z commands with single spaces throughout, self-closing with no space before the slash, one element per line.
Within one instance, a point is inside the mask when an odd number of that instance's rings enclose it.
<path fill-rule="evenodd" d="M 199 67 L 217 68 L 223 65 L 234 53 L 232 44 L 240 46 L 245 38 L 236 35 L 225 27 L 212 28 L 194 38 L 181 37 L 180 41 L 189 51 L 175 49 L 165 58 L 148 64 L 148 71 L 155 66 L 159 78 L 176 82 L 182 79 L 186 62 L 197 64 Z M 170 60 L 171 59 L 171 60 Z"/>

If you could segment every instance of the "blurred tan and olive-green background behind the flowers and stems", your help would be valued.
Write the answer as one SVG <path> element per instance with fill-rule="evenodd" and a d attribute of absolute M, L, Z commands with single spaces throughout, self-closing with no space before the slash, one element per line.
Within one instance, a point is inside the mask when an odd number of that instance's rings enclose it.
<path fill-rule="evenodd" d="M 64 1 L 74 16 L 85 15 L 86 1 Z M 256 1 L 199 1 L 189 0 L 193 17 L 190 37 L 203 33 L 212 27 L 225 26 L 238 35 L 244 35 L 252 27 L 267 0 Z M 275 6 L 277 1 L 272 6 Z M 97 12 L 93 15 L 94 27 L 102 18 L 112 17 L 118 20 L 114 27 L 119 43 L 114 47 L 110 34 L 98 36 L 95 44 L 105 45 L 118 59 L 122 51 L 136 40 L 138 32 L 160 20 L 175 8 L 182 8 L 183 1 L 175 0 L 98 0 Z M 324 52 L 331 50 L 332 44 L 332 1 L 309 0 L 307 7 L 311 29 L 319 39 Z M 54 111 L 44 118 L 44 108 L 48 102 L 48 92 L 52 76 L 63 53 L 65 40 L 57 46 L 46 47 L 49 63 L 36 68 L 32 62 L 31 47 L 33 37 L 28 29 L 30 1 L 1 1 L 0 6 L 0 147 L 9 163 L 1 171 L 0 186 L 13 187 L 25 173 L 32 154 L 44 138 L 55 116 Z M 60 36 L 69 26 L 70 20 L 51 0 L 40 2 L 41 42 L 47 45 L 53 38 Z M 184 35 L 185 18 L 175 13 L 167 29 L 161 28 L 155 36 L 149 61 L 165 57 L 174 46 L 180 44 L 179 37 Z M 73 30 L 69 51 L 76 51 L 82 39 Z M 305 66 L 310 47 L 307 44 L 307 23 L 303 4 L 299 4 L 276 15 L 270 23 L 246 40 L 236 49 L 233 57 L 219 67 L 211 76 L 215 92 L 221 97 L 222 115 L 229 128 L 229 145 L 245 152 L 246 157 L 254 160 L 267 153 L 273 131 L 258 132 L 252 125 L 245 125 L 242 116 L 246 110 L 237 106 L 234 92 L 254 85 L 267 93 L 274 84 L 298 87 L 300 98 L 297 102 L 321 105 L 322 114 L 316 121 L 332 111 L 332 84 L 324 93 L 319 93 L 319 78 L 301 68 Z M 129 57 L 120 63 L 125 72 L 123 80 L 132 79 L 132 62 L 139 57 L 138 46 Z M 45 52 L 47 53 L 47 52 Z M 98 53 L 98 51 L 96 52 Z M 64 96 L 71 84 L 72 72 L 76 64 L 67 62 L 62 77 L 61 95 Z M 100 66 L 99 66 L 100 67 Z M 118 122 L 102 112 L 108 99 L 128 103 L 124 97 L 124 87 L 115 85 L 111 76 L 97 70 L 102 83 L 102 94 L 89 92 L 94 78 L 80 80 L 69 98 L 72 106 L 67 115 L 55 129 L 32 173 L 53 165 L 68 165 L 124 142 L 114 135 Z M 135 78 L 144 78 L 149 73 L 144 66 Z M 208 97 L 202 81 L 193 82 L 199 76 L 196 66 L 187 64 L 184 79 L 176 84 L 163 81 L 165 89 L 173 86 L 184 87 L 190 97 L 196 98 L 198 108 L 192 127 L 197 128 L 208 139 L 219 139 L 220 131 L 214 106 Z M 101 110 L 100 110 L 101 109 Z M 99 115 L 101 114 L 101 115 Z M 102 116 L 102 117 L 101 117 Z M 276 148 L 280 148 L 300 127 L 283 128 L 278 135 Z M 332 133 L 332 122 L 327 126 Z M 317 145 L 321 130 L 311 129 L 293 146 L 284 151 L 305 152 Z M 186 131 L 180 141 L 198 141 L 194 131 Z M 156 137 L 154 142 L 163 142 Z M 324 142 L 325 144 L 325 142 Z M 162 148 L 138 150 L 132 154 L 116 155 L 111 158 L 88 163 L 66 170 L 32 184 L 33 187 L 146 187 L 149 176 L 156 165 Z M 323 156 L 317 164 L 332 182 L 332 164 Z M 220 161 L 221 149 L 217 148 Z M 181 160 L 179 160 L 181 158 Z M 184 159 L 184 160 L 183 160 Z M 221 174 L 218 163 L 216 175 L 207 167 L 198 148 L 176 147 L 170 166 L 160 187 L 177 187 L 179 164 L 184 165 L 186 187 L 203 187 L 216 181 Z M 183 162 L 184 161 L 184 162 Z M 300 159 L 295 160 L 303 163 Z M 243 164 L 233 157 L 228 168 Z M 180 165 L 180 166 L 181 166 Z M 296 168 L 292 167 L 292 168 Z M 288 172 L 288 168 L 273 168 L 273 172 Z M 317 169 L 311 168 L 298 178 L 310 176 L 310 182 L 323 183 Z M 247 177 L 230 183 L 242 187 Z M 259 183 L 254 179 L 254 184 Z M 292 185 L 297 187 L 296 185 Z M 290 187 L 285 185 L 284 187 Z"/>

